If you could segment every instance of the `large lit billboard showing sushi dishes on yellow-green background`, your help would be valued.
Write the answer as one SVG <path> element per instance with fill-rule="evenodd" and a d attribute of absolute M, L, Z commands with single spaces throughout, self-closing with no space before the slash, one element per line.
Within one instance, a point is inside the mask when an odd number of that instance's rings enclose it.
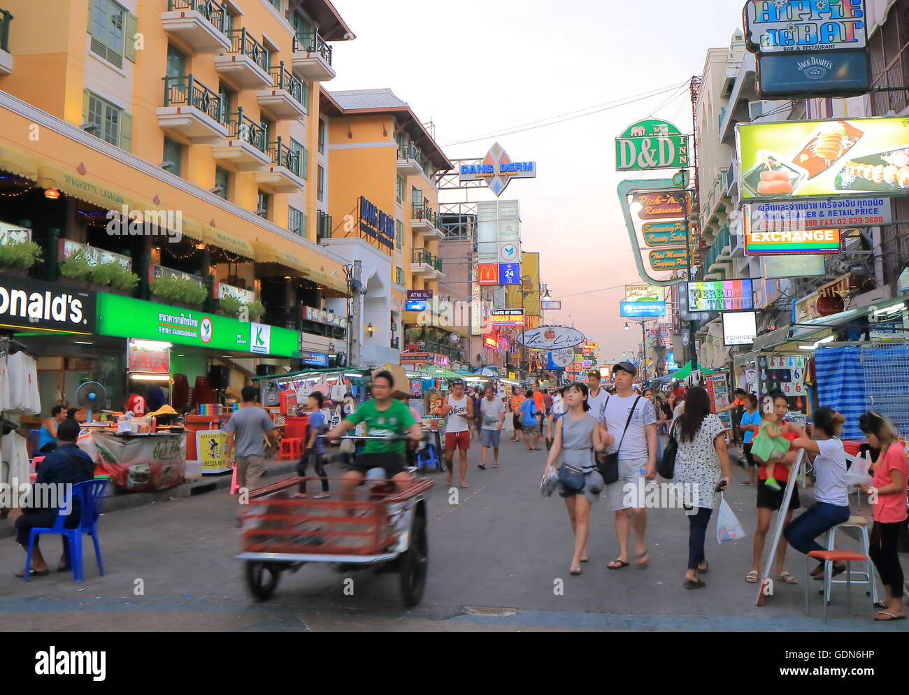
<path fill-rule="evenodd" d="M 909 118 L 739 124 L 735 131 L 744 200 L 909 194 Z"/>

